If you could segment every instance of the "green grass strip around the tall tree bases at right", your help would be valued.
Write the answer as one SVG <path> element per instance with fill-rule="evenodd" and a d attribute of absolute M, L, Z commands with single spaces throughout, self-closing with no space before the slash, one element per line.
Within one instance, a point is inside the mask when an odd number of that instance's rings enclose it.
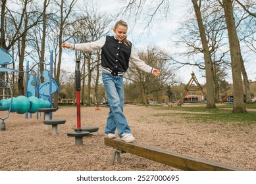
<path fill-rule="evenodd" d="M 180 111 L 179 116 L 188 122 L 223 122 L 232 123 L 239 122 L 242 124 L 256 124 L 256 112 L 248 111 L 247 113 L 232 113 L 232 104 L 223 104 L 217 108 L 207 109 L 205 106 L 151 106 L 157 110 L 170 110 L 168 113 L 159 113 L 155 116 L 175 116 Z M 245 108 L 256 109 L 256 104 L 245 104 Z M 196 112 L 196 113 L 195 113 Z"/>

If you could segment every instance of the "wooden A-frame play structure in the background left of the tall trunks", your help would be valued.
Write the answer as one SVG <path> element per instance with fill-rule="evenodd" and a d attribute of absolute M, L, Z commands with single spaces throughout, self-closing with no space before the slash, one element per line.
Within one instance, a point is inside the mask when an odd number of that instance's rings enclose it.
<path fill-rule="evenodd" d="M 182 93 L 180 99 L 178 101 L 176 101 L 176 103 L 174 103 L 174 104 L 181 106 L 181 104 L 184 101 L 184 97 L 186 97 L 186 95 L 188 94 L 188 91 L 201 91 L 201 93 L 203 95 L 205 95 L 205 92 L 203 92 L 203 87 L 201 87 L 201 85 L 197 81 L 197 78 L 195 77 L 195 74 L 193 72 L 192 72 L 191 76 L 192 76 L 192 78 L 190 79 L 190 81 L 188 81 L 188 84 L 186 85 L 184 92 Z M 195 82 L 197 87 L 193 87 L 193 88 L 191 87 L 193 82 Z M 205 95 L 205 98 L 206 98 L 206 95 Z"/>

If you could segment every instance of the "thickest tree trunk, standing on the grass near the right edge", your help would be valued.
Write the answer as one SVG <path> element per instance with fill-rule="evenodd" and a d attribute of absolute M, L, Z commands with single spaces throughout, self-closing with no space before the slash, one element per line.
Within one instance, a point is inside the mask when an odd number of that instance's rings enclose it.
<path fill-rule="evenodd" d="M 240 43 L 236 34 L 236 24 L 234 22 L 234 14 L 232 0 L 223 0 L 224 13 L 226 18 L 226 26 L 228 30 L 228 40 L 230 45 L 230 57 L 233 79 L 233 113 L 246 112 L 245 104 L 243 103 L 243 85 L 242 85 L 242 62 Z"/>

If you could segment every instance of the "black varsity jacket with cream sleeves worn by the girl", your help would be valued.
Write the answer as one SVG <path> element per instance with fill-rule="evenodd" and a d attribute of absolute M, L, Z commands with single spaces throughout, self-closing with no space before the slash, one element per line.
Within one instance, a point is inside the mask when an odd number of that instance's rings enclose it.
<path fill-rule="evenodd" d="M 95 51 L 101 49 L 101 66 L 103 70 L 113 74 L 114 76 L 122 75 L 129 67 L 129 61 L 133 62 L 140 70 L 153 73 L 151 66 L 145 64 L 140 59 L 132 43 L 124 45 L 122 41 L 118 41 L 115 36 L 102 37 L 97 41 L 88 43 L 76 43 L 73 49 L 77 51 Z"/>

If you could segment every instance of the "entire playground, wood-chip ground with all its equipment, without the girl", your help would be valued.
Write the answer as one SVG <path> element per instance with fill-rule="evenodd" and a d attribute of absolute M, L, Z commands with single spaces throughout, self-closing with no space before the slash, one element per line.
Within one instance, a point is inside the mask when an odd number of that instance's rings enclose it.
<path fill-rule="evenodd" d="M 13 57 L 5 49 L 0 51 L 0 64 L 11 64 Z M 52 51 L 49 64 L 43 64 L 44 69 L 39 72 L 38 67 L 36 72 L 39 63 L 31 67 L 27 62 L 26 96 L 13 97 L 11 85 L 0 80 L 0 170 L 256 170 L 254 123 L 236 117 L 207 122 L 203 115 L 211 112 L 195 112 L 193 107 L 189 112 L 169 104 L 166 108 L 127 104 L 124 113 L 136 142 L 108 139 L 104 129 L 109 106 L 80 106 L 80 60 L 76 60 L 76 107 L 52 107 L 52 94 L 59 90 L 52 77 Z M 1 67 L 0 72 L 22 71 Z M 192 73 L 176 103 L 180 108 L 205 106 L 182 103 L 192 81 L 198 87 L 194 90 L 203 94 Z M 189 118 L 191 114 L 201 114 L 203 121 Z"/>

